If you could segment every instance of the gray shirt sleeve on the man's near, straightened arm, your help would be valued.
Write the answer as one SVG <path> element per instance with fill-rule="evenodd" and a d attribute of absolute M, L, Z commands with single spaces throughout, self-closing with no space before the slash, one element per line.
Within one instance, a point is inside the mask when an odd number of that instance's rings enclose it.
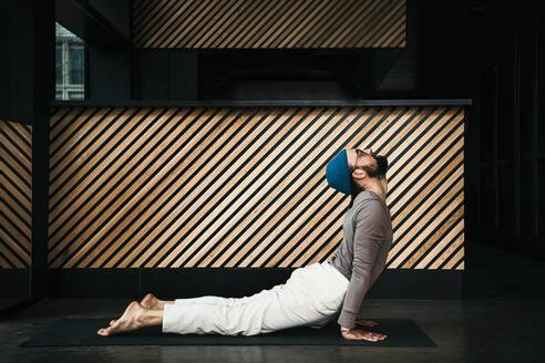
<path fill-rule="evenodd" d="M 381 208 L 379 200 L 368 199 L 356 214 L 352 274 L 338 319 L 338 323 L 345 328 L 354 328 L 363 297 L 378 277 L 378 271 L 383 269 Z M 377 263 L 382 263 L 382 267 Z"/>

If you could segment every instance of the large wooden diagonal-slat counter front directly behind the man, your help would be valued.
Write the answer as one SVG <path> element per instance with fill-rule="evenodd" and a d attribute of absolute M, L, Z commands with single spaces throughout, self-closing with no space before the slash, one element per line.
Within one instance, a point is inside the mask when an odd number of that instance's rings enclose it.
<path fill-rule="evenodd" d="M 300 267 L 332 256 L 345 147 L 390 160 L 388 268 L 463 269 L 464 112 L 429 107 L 60 107 L 52 268 Z"/>

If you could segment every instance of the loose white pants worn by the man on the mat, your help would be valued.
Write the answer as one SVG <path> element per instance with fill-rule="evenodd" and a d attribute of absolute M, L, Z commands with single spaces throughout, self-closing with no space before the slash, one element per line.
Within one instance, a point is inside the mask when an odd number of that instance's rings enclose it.
<path fill-rule="evenodd" d="M 165 304 L 163 332 L 255 335 L 307 325 L 321 328 L 342 308 L 349 281 L 328 261 L 291 272 L 286 283 L 245 298 L 200 297 Z"/>

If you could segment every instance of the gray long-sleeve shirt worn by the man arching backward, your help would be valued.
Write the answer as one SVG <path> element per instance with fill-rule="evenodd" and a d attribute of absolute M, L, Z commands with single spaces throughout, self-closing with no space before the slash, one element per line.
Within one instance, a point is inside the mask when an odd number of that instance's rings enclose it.
<path fill-rule="evenodd" d="M 385 267 L 393 235 L 390 209 L 373 191 L 361 191 L 342 229 L 342 242 L 329 262 L 350 281 L 337 322 L 352 329 L 363 297 Z"/>

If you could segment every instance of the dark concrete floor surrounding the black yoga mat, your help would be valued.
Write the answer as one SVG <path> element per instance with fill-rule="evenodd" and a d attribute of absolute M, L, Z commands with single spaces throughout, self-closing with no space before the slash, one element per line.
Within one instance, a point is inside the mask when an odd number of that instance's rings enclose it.
<path fill-rule="evenodd" d="M 366 300 L 360 315 L 409 318 L 436 348 L 19 344 L 56 319 L 116 315 L 126 300 L 43 300 L 0 321 L 0 362 L 544 362 L 545 262 L 471 248 L 464 300 Z M 467 268 L 467 266 L 470 266 Z"/>

